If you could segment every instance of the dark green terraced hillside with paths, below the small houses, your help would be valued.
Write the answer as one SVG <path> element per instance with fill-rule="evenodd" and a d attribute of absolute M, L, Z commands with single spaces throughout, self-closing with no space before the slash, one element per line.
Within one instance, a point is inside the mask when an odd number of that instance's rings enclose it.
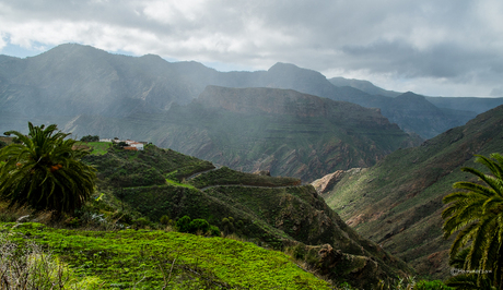
<path fill-rule="evenodd" d="M 116 146 L 106 154 L 94 152 L 84 161 L 98 170 L 98 193 L 71 225 L 104 227 L 100 222 L 106 221 L 106 228 L 114 229 L 157 228 L 188 216 L 206 219 L 224 235 L 293 251 L 306 269 L 334 285 L 367 287 L 411 273 L 342 222 L 314 188 L 299 179 L 214 168 L 153 145 L 140 152 Z"/>

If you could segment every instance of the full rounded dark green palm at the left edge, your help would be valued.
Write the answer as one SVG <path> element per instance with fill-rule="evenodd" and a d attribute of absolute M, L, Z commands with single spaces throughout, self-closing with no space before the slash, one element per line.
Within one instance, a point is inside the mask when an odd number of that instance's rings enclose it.
<path fill-rule="evenodd" d="M 0 197 L 10 205 L 28 205 L 34 209 L 72 213 L 94 191 L 95 169 L 81 161 L 87 152 L 73 149 L 74 140 L 51 124 L 28 123 L 27 136 L 17 131 L 20 144 L 0 149 Z"/>

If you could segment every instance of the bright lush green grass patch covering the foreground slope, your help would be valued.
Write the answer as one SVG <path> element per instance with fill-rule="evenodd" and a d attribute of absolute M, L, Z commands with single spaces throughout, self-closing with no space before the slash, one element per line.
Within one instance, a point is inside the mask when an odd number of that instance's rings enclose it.
<path fill-rule="evenodd" d="M 231 239 L 178 232 L 52 229 L 0 223 L 15 243 L 36 242 L 102 289 L 330 289 L 286 254 Z"/>

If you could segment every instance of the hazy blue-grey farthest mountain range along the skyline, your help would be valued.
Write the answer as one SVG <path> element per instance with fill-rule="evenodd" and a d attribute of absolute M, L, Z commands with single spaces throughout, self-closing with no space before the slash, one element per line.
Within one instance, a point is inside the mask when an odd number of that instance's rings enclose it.
<path fill-rule="evenodd" d="M 0 56 L 1 110 L 8 111 L 9 125 L 20 129 L 24 128 L 27 118 L 35 117 L 40 120 L 67 117 L 62 121 L 68 122 L 68 117 L 79 114 L 127 117 L 161 112 L 174 102 L 189 104 L 208 85 L 286 88 L 381 108 L 383 116 L 403 131 L 423 138 L 461 125 L 481 112 L 470 106 L 473 99 L 463 101 L 461 106 L 459 101 L 453 104 L 443 98 L 425 99 L 416 95 L 414 101 L 420 108 L 410 110 L 402 108 L 397 98 L 401 94 L 389 97 L 375 95 L 383 89 L 367 89 L 370 93 L 366 93 L 361 90 L 362 86 L 358 89 L 341 86 L 340 82 L 334 85 L 334 78 L 329 81 L 319 72 L 288 63 L 277 63 L 267 71 L 218 72 L 198 62 L 169 63 L 152 55 L 139 58 L 110 55 L 75 44 L 61 45 L 26 59 Z M 438 105 L 431 106 L 434 102 Z M 477 104 L 488 104 L 482 106 L 488 108 L 503 104 L 503 99 L 478 98 Z M 436 119 L 424 118 L 424 110 Z"/>

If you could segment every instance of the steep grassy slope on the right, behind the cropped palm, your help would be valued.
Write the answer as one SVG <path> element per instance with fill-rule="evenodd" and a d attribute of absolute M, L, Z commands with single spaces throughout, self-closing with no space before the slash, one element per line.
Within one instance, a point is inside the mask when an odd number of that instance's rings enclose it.
<path fill-rule="evenodd" d="M 346 174 L 324 195 L 350 226 L 422 275 L 448 276 L 442 238 L 442 198 L 452 184 L 472 177 L 473 155 L 501 152 L 503 107 L 478 116 L 416 148 L 400 149 L 360 173 Z"/>

